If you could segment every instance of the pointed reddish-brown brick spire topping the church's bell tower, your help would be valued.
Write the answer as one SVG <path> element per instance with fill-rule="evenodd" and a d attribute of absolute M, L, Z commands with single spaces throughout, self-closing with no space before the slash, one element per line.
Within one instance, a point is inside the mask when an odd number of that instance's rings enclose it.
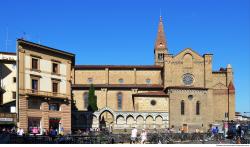
<path fill-rule="evenodd" d="M 158 25 L 157 38 L 155 42 L 155 49 L 166 49 L 167 50 L 167 41 L 164 33 L 162 17 L 160 16 L 160 22 Z"/>

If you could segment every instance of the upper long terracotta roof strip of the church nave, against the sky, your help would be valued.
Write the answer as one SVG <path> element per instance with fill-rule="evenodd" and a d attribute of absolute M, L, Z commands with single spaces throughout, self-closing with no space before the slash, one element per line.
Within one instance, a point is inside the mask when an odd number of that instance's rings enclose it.
<path fill-rule="evenodd" d="M 75 65 L 75 69 L 163 69 L 159 65 Z"/>

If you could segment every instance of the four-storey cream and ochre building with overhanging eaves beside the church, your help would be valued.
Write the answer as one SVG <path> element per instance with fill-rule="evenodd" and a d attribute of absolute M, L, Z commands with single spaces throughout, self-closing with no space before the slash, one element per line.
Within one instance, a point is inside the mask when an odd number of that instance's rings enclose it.
<path fill-rule="evenodd" d="M 18 127 L 38 134 L 71 132 L 71 75 L 75 55 L 22 39 L 17 40 Z M 62 129 L 63 128 L 63 129 Z"/>

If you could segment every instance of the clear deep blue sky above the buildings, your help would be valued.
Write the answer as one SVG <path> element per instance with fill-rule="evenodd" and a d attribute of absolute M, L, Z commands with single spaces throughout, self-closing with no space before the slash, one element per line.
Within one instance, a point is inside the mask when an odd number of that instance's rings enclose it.
<path fill-rule="evenodd" d="M 236 111 L 250 112 L 249 0 L 1 1 L 0 51 L 24 37 L 75 53 L 77 64 L 150 65 L 160 9 L 169 52 L 213 53 L 213 70 L 230 63 Z"/>

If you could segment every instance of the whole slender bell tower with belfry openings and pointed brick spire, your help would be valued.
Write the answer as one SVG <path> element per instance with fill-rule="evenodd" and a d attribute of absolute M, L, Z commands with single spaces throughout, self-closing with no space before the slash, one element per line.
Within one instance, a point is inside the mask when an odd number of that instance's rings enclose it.
<path fill-rule="evenodd" d="M 164 33 L 162 17 L 158 25 L 158 32 L 154 47 L 155 65 L 163 65 L 164 55 L 168 53 L 167 41 Z"/>

